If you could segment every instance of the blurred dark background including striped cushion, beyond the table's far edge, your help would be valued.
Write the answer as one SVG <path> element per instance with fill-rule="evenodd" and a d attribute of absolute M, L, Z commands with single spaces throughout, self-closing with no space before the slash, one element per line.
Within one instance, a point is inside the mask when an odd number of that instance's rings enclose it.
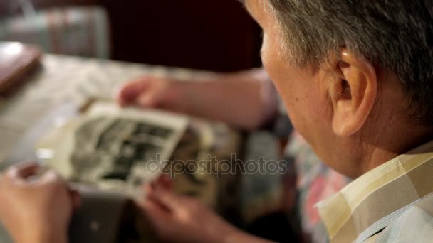
<path fill-rule="evenodd" d="M 261 65 L 261 31 L 236 0 L 0 0 L 0 41 L 219 72 Z"/>

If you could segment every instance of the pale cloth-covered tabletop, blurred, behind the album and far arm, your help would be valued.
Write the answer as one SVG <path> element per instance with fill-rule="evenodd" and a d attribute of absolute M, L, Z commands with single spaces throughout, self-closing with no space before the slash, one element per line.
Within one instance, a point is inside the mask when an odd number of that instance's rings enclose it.
<path fill-rule="evenodd" d="M 46 55 L 42 63 L 42 70 L 12 99 L 0 100 L 0 161 L 6 159 L 28 129 L 59 104 L 80 106 L 89 97 L 113 99 L 122 84 L 142 75 L 181 80 L 214 75 L 182 68 L 61 55 Z"/>

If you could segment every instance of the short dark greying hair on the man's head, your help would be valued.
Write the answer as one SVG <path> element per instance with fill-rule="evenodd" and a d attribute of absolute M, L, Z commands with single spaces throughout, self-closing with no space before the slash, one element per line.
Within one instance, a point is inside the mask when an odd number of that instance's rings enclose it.
<path fill-rule="evenodd" d="M 265 0 L 282 30 L 290 60 L 319 66 L 348 48 L 395 73 L 410 116 L 433 125 L 432 0 Z"/>

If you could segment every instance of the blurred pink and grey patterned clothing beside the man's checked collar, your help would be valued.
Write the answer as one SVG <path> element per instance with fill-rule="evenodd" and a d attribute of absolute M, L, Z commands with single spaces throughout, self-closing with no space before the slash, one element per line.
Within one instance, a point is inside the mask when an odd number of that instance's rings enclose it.
<path fill-rule="evenodd" d="M 296 185 L 288 190 L 297 190 L 298 207 L 290 215 L 292 224 L 299 225 L 303 242 L 328 242 L 328 234 L 320 220 L 315 204 L 338 193 L 350 182 L 349 178 L 333 171 L 315 155 L 303 137 L 294 131 L 286 147 L 286 156 L 294 161 L 296 168 Z M 295 188 L 296 186 L 296 188 Z"/>

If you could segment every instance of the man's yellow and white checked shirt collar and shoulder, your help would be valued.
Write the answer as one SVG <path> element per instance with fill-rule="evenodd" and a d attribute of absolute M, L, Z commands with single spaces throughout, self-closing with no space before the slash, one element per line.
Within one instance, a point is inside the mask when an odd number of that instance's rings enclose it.
<path fill-rule="evenodd" d="M 330 242 L 433 242 L 433 141 L 318 203 Z"/>

